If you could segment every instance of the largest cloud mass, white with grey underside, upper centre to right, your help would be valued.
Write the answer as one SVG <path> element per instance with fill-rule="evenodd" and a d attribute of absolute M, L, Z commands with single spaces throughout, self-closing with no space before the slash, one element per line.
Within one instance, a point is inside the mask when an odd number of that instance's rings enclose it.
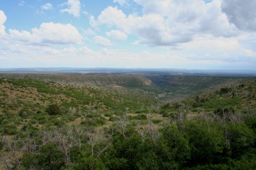
<path fill-rule="evenodd" d="M 221 0 L 205 3 L 198 0 L 135 0 L 142 6 L 143 15 L 126 16 L 117 7 L 108 6 L 97 19 L 90 18 L 92 26 L 117 27 L 127 34 L 139 36 L 139 43 L 169 46 L 189 42 L 194 35 L 207 34 L 231 37 L 237 28 L 221 12 Z"/>

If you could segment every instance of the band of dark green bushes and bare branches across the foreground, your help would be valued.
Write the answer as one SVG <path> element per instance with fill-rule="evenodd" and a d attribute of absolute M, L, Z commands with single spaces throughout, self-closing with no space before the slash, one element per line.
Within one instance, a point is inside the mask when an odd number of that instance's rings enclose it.
<path fill-rule="evenodd" d="M 43 130 L 13 138 L 23 152 L 13 169 L 255 169 L 255 123 L 243 120 L 204 115 L 157 128 L 123 117 L 103 130 Z"/>

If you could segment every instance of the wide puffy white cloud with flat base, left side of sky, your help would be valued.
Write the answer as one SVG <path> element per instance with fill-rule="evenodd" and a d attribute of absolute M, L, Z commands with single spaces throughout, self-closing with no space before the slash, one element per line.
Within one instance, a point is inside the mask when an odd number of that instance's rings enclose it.
<path fill-rule="evenodd" d="M 9 29 L 12 40 L 35 44 L 77 44 L 81 43 L 82 36 L 71 24 L 42 23 L 40 28 L 28 31 Z"/>

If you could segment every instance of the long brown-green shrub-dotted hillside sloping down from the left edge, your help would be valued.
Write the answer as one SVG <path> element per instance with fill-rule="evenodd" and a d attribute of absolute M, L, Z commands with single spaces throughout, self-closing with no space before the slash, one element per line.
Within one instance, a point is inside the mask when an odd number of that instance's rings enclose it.
<path fill-rule="evenodd" d="M 157 102 L 147 95 L 124 88 L 103 88 L 101 86 L 74 85 L 62 82 L 46 82 L 31 79 L 1 79 L 1 104 L 6 111 L 19 111 L 22 107 L 46 107 L 59 104 L 65 109 L 76 107 L 81 111 L 111 109 L 124 111 L 126 107 L 141 109 Z"/>

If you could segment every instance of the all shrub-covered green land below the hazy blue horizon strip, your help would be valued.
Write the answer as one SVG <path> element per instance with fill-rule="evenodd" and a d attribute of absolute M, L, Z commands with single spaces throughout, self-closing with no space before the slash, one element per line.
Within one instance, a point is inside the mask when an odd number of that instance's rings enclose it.
<path fill-rule="evenodd" d="M 256 169 L 255 79 L 12 76 L 0 169 Z"/>

